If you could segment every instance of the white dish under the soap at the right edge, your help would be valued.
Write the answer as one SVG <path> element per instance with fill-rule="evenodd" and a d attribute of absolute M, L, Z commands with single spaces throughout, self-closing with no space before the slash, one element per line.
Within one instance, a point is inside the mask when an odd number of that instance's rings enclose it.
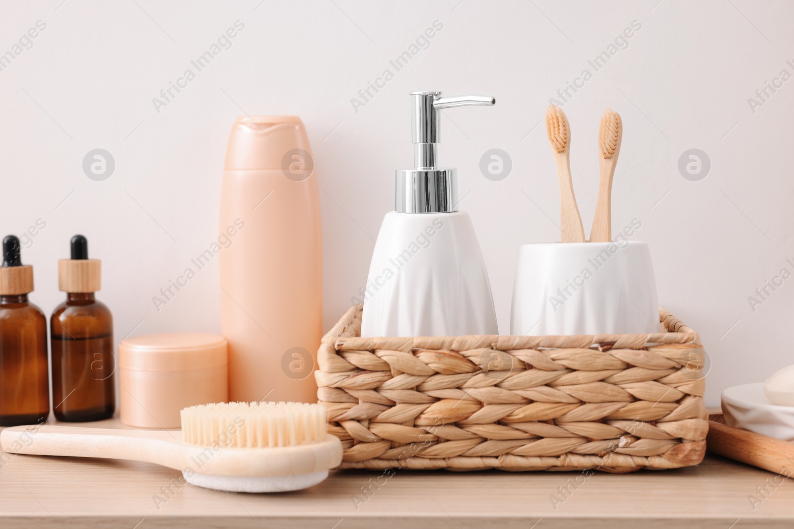
<path fill-rule="evenodd" d="M 794 442 L 794 406 L 777 406 L 764 394 L 764 383 L 734 385 L 723 391 L 728 426 Z"/>

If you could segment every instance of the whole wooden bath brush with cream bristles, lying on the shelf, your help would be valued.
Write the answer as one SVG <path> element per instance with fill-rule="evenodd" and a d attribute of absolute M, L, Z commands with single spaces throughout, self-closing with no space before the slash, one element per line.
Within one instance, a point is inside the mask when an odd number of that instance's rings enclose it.
<path fill-rule="evenodd" d="M 204 404 L 182 410 L 179 431 L 16 426 L 0 433 L 12 454 L 132 459 L 181 470 L 207 489 L 276 493 L 306 489 L 339 466 L 326 407 L 294 402 Z"/>

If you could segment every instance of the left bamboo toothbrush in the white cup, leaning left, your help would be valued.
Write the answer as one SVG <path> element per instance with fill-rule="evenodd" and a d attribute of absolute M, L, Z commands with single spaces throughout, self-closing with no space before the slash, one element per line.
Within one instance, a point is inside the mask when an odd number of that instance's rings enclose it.
<path fill-rule="evenodd" d="M 573 195 L 573 182 L 571 179 L 571 129 L 568 118 L 558 106 L 550 105 L 546 109 L 546 134 L 549 135 L 549 144 L 554 151 L 554 160 L 557 162 L 557 177 L 560 180 L 560 231 L 564 243 L 584 243 L 584 228 L 579 208 L 576 207 L 576 197 Z"/>

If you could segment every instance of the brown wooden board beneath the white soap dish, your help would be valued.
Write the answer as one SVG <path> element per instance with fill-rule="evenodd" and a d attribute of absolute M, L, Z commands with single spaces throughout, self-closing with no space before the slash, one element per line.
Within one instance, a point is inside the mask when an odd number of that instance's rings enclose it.
<path fill-rule="evenodd" d="M 708 416 L 706 450 L 784 476 L 794 473 L 794 443 L 730 427 L 722 413 Z"/>

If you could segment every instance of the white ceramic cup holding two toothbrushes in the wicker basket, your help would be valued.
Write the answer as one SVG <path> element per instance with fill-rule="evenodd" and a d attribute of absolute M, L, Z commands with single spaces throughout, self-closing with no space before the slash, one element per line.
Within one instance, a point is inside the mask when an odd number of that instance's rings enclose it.
<path fill-rule="evenodd" d="M 511 335 L 659 332 L 648 244 L 524 244 L 515 271 Z"/>

